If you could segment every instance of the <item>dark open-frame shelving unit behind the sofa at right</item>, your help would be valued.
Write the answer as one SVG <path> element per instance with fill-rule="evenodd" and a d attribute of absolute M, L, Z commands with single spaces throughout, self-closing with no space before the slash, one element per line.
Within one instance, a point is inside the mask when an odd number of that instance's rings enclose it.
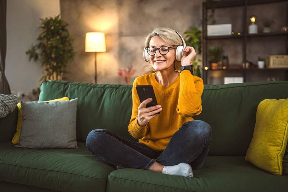
<path fill-rule="evenodd" d="M 214 1 L 212 4 L 208 4 L 207 2 L 202 3 L 202 62 L 203 62 L 203 81 L 204 84 L 208 84 L 208 77 L 211 76 L 212 73 L 221 73 L 220 76 L 223 78 L 224 73 L 226 72 L 234 72 L 237 74 L 241 74 L 243 76 L 243 81 L 247 81 L 247 73 L 258 73 L 258 72 L 265 72 L 265 73 L 282 73 L 281 80 L 288 80 L 288 68 L 246 68 L 246 65 L 242 67 L 242 63 L 247 60 L 247 41 L 251 41 L 252 39 L 262 38 L 262 37 L 284 37 L 284 42 L 286 42 L 286 54 L 288 54 L 288 32 L 271 32 L 271 33 L 258 33 L 258 34 L 248 34 L 247 28 L 247 7 L 249 5 L 255 4 L 268 4 L 268 3 L 275 3 L 275 2 L 287 2 L 286 0 L 237 0 L 237 1 Z M 217 8 L 224 8 L 224 7 L 242 7 L 243 8 L 243 16 L 242 16 L 242 24 L 243 24 L 243 33 L 241 35 L 234 34 L 234 35 L 223 35 L 223 36 L 207 36 L 207 10 L 214 7 Z M 288 11 L 288 3 L 286 10 Z M 206 13 L 206 14 L 205 14 Z M 286 25 L 288 26 L 288 19 L 286 19 Z M 283 24 L 284 25 L 284 24 Z M 230 41 L 232 39 L 237 39 L 237 41 L 242 41 L 243 51 L 239 54 L 242 54 L 242 62 L 238 63 L 237 65 L 239 68 L 232 68 L 229 67 L 227 69 L 207 69 L 205 67 L 209 66 L 209 61 L 207 57 L 207 44 L 211 40 L 223 40 L 223 41 Z M 233 40 L 234 41 L 234 40 Z M 260 78 L 259 78 L 260 79 Z"/>

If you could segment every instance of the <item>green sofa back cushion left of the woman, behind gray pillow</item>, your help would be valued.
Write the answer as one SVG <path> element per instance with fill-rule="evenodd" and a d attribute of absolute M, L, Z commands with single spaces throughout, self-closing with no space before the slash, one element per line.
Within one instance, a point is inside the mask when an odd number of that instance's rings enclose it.
<path fill-rule="evenodd" d="M 85 142 L 94 129 L 107 129 L 129 140 L 132 113 L 132 85 L 94 84 L 72 81 L 44 81 L 39 101 L 53 98 L 79 98 L 77 105 L 77 141 Z"/>

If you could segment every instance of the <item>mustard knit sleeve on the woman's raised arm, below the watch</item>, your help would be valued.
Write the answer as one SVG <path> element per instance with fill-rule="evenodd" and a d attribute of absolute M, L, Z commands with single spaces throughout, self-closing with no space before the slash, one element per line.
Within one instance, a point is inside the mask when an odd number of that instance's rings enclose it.
<path fill-rule="evenodd" d="M 180 88 L 177 113 L 183 117 L 199 115 L 202 111 L 201 95 L 203 93 L 203 80 L 193 76 L 189 70 L 180 73 Z"/>

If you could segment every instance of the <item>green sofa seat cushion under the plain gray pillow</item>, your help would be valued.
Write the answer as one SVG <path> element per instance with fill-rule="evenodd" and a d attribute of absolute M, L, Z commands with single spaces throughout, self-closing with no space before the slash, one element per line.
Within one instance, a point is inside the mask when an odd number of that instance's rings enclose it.
<path fill-rule="evenodd" d="M 107 176 L 115 166 L 78 149 L 20 149 L 0 143 L 0 181 L 58 191 L 106 191 Z"/>

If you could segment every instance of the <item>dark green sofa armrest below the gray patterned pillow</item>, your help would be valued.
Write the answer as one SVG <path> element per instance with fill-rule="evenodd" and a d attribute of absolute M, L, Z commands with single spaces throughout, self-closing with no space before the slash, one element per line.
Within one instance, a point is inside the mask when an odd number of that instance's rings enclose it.
<path fill-rule="evenodd" d="M 17 106 L 12 113 L 9 113 L 6 117 L 0 119 L 0 143 L 6 141 L 12 141 L 12 138 L 16 133 L 17 120 L 18 120 Z"/>

